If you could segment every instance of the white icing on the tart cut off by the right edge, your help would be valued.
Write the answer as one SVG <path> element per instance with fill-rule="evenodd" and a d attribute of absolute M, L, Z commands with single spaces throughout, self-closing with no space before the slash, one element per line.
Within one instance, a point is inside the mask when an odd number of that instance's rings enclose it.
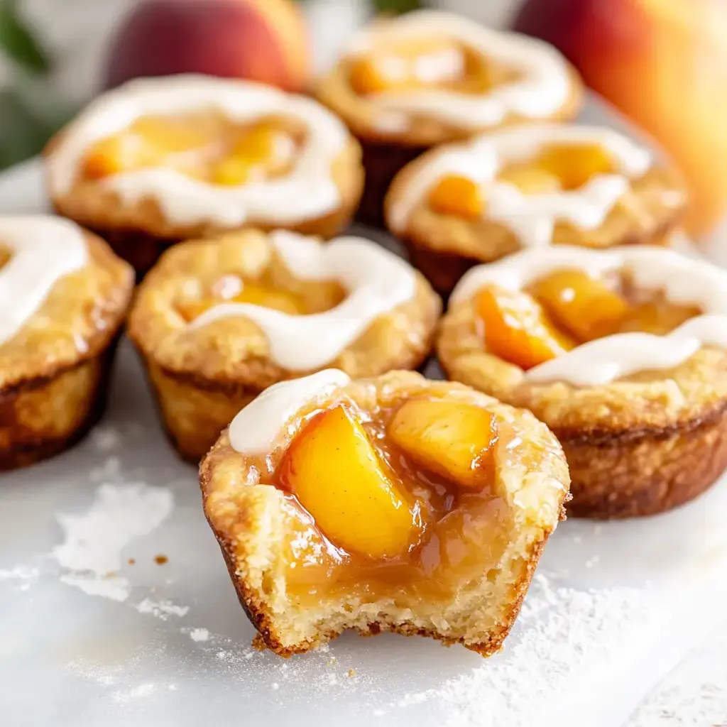
<path fill-rule="evenodd" d="M 555 246 L 518 252 L 500 262 L 472 268 L 451 295 L 469 300 L 488 284 L 521 290 L 555 270 L 577 268 L 593 276 L 628 273 L 640 289 L 661 289 L 680 305 L 697 305 L 696 316 L 670 334 L 622 333 L 590 341 L 525 374 L 525 382 L 566 381 L 576 386 L 608 384 L 646 369 L 678 366 L 703 346 L 727 348 L 727 271 L 669 249 L 651 246 L 609 251 Z"/>

